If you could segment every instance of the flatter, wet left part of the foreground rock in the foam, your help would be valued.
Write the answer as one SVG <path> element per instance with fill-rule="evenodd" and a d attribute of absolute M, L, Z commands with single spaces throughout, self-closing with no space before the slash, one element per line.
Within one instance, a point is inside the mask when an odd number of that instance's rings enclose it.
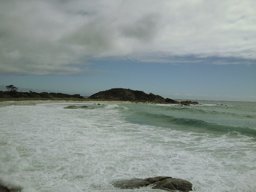
<path fill-rule="evenodd" d="M 117 188 L 121 189 L 135 189 L 144 186 L 148 186 L 151 184 L 150 182 L 146 181 L 145 179 L 130 179 L 130 180 L 118 180 L 114 182 L 112 185 Z"/>

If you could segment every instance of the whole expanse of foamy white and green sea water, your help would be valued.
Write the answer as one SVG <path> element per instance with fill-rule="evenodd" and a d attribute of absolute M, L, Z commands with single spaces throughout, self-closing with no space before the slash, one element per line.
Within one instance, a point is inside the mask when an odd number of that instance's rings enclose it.
<path fill-rule="evenodd" d="M 256 103 L 199 103 L 2 107 L 0 184 L 22 192 L 156 192 L 111 183 L 171 176 L 197 192 L 255 192 Z"/>

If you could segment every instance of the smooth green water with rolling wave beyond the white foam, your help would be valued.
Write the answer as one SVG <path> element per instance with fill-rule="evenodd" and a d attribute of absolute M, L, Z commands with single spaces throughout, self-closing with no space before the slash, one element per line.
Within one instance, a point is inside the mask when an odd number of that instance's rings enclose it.
<path fill-rule="evenodd" d="M 129 106 L 126 120 L 133 123 L 164 127 L 180 125 L 182 130 L 234 132 L 256 136 L 256 103 L 200 101 L 202 105 L 137 105 Z"/>

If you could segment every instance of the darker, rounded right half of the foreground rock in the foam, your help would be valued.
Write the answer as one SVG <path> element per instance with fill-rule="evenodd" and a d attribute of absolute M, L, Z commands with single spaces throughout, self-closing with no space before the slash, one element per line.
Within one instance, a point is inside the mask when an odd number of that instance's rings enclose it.
<path fill-rule="evenodd" d="M 192 191 L 192 184 L 183 179 L 165 179 L 162 181 L 157 181 L 152 187 L 153 189 L 163 189 L 166 191 L 183 191 L 188 192 Z"/>

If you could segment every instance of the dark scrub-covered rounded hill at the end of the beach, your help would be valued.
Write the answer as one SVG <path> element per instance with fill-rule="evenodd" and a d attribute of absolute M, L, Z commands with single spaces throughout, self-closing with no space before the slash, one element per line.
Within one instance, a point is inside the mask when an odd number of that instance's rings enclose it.
<path fill-rule="evenodd" d="M 120 101 L 141 101 L 164 103 L 164 98 L 153 93 L 143 91 L 134 91 L 124 88 L 113 88 L 106 91 L 100 91 L 88 97 L 88 99 L 120 100 Z"/>

